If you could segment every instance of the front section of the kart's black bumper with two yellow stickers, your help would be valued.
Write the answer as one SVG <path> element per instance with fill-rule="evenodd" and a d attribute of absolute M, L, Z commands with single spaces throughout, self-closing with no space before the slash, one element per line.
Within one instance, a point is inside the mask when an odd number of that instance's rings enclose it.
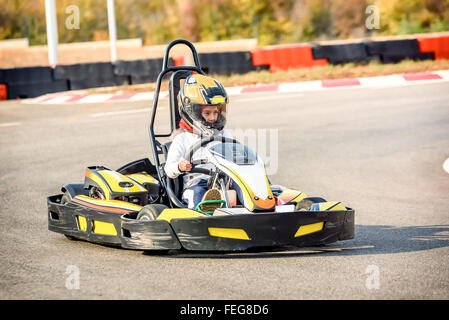
<path fill-rule="evenodd" d="M 321 230 L 297 235 L 301 226 L 319 225 L 321 222 L 323 223 Z M 173 219 L 171 226 L 179 242 L 187 250 L 228 251 L 254 247 L 305 247 L 354 238 L 354 210 Z M 227 230 L 235 232 L 228 235 Z M 238 239 L 232 238 L 233 234 L 237 235 Z"/>

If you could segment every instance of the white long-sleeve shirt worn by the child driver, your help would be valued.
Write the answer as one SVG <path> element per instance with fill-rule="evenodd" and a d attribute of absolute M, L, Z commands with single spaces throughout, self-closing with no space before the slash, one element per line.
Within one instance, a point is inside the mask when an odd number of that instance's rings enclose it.
<path fill-rule="evenodd" d="M 223 136 L 225 138 L 231 138 L 231 133 L 223 129 L 221 132 L 216 134 L 217 137 Z M 197 134 L 185 131 L 183 133 L 178 134 L 173 139 L 173 142 L 170 145 L 170 149 L 168 150 L 167 160 L 165 162 L 164 170 L 165 173 L 169 178 L 176 178 L 180 174 L 184 173 L 179 171 L 178 163 L 181 158 L 184 158 L 186 151 L 196 142 L 200 141 L 201 137 Z M 209 142 L 206 146 L 212 146 L 214 144 L 217 144 L 219 142 L 212 141 Z M 204 153 L 204 147 L 198 149 L 192 156 L 192 160 L 199 160 L 204 159 L 205 153 Z M 189 159 L 187 159 L 189 160 Z M 199 168 L 205 168 L 205 169 L 213 169 L 212 164 L 201 164 L 198 165 Z M 186 172 L 184 175 L 184 189 L 188 188 L 190 186 L 193 186 L 197 184 L 201 179 L 207 180 L 209 179 L 208 175 L 202 174 L 202 173 L 189 173 Z"/>

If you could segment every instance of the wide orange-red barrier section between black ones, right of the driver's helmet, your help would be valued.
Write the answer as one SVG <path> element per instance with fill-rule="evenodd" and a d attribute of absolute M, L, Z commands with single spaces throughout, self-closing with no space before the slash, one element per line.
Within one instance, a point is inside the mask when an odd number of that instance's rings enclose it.
<path fill-rule="evenodd" d="M 280 45 L 251 50 L 253 65 L 269 65 L 271 72 L 327 65 L 326 59 L 314 59 L 309 44 Z"/>

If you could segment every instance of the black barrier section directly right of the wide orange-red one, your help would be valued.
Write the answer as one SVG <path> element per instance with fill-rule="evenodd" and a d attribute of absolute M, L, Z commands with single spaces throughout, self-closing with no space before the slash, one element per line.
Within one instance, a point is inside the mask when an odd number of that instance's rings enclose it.
<path fill-rule="evenodd" d="M 349 62 L 367 63 L 371 60 L 364 43 L 348 43 L 339 45 L 313 45 L 314 59 L 327 59 L 330 64 Z"/>

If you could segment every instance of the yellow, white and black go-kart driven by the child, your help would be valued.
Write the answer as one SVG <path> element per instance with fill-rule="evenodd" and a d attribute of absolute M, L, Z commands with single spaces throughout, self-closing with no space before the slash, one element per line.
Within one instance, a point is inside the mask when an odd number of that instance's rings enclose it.
<path fill-rule="evenodd" d="M 168 66 L 170 49 L 176 44 L 191 49 L 194 66 Z M 212 163 L 214 169 L 194 166 L 192 172 L 210 176 L 209 185 L 221 190 L 221 207 L 203 212 L 201 204 L 188 209 L 180 201 L 182 176 L 170 179 L 163 170 L 170 142 L 161 144 L 156 138 L 168 138 L 178 128 L 177 94 L 192 72 L 204 74 L 193 45 L 181 39 L 170 43 L 157 79 L 149 124 L 153 162 L 145 158 L 117 170 L 88 167 L 84 183 L 67 184 L 62 187 L 63 194 L 47 198 L 49 230 L 70 239 L 155 252 L 304 247 L 352 239 L 353 209 L 270 184 L 258 154 L 229 138 L 203 138 L 185 156 L 191 159 L 204 147 L 207 157 L 201 161 Z M 156 135 L 153 125 L 161 81 L 169 73 L 171 132 Z M 242 190 L 243 203 L 227 190 L 229 179 Z"/>

